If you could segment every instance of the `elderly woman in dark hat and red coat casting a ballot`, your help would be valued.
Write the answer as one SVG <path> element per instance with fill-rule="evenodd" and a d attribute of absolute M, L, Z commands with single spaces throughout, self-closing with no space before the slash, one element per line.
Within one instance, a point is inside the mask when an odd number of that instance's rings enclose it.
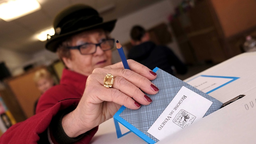
<path fill-rule="evenodd" d="M 116 20 L 102 22 L 93 8 L 75 5 L 63 10 L 54 20 L 55 35 L 46 48 L 58 53 L 64 62 L 59 85 L 39 99 L 36 115 L 15 124 L 0 143 L 89 143 L 98 125 L 112 118 L 124 105 L 138 109 L 152 100 L 144 93 L 156 94 L 150 80 L 156 73 L 128 60 L 111 65 L 110 38 Z M 103 84 L 106 74 L 114 76 L 112 88 Z"/>

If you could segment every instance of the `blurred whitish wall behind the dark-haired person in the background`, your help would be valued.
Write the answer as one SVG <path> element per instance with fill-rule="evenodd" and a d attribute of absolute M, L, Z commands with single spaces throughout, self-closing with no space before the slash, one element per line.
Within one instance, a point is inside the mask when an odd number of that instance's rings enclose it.
<path fill-rule="evenodd" d="M 168 23 L 168 16 L 174 12 L 174 6 L 169 0 L 160 1 L 149 7 L 141 9 L 137 12 L 126 15 L 123 18 L 118 18 L 116 27 L 111 33 L 111 36 L 117 39 L 121 44 L 127 43 L 130 40 L 129 33 L 134 25 L 141 25 L 145 29 L 152 28 L 160 23 Z M 171 28 L 170 32 L 172 33 Z M 174 35 L 172 34 L 174 37 Z M 168 44 L 169 47 L 176 53 L 176 55 L 183 61 L 184 58 L 178 48 L 176 39 L 173 38 L 173 42 Z M 125 54 L 127 50 L 123 47 Z M 117 50 L 113 51 L 113 63 L 121 61 Z"/>

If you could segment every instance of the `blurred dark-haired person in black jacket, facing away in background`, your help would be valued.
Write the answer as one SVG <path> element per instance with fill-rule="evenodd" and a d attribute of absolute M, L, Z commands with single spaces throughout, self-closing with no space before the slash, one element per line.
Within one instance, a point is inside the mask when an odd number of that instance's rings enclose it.
<path fill-rule="evenodd" d="M 132 27 L 130 31 L 131 44 L 128 58 L 138 61 L 150 69 L 159 67 L 160 69 L 175 75 L 185 74 L 186 65 L 173 53 L 173 51 L 161 45 L 156 45 L 150 41 L 149 33 L 139 25 Z"/>

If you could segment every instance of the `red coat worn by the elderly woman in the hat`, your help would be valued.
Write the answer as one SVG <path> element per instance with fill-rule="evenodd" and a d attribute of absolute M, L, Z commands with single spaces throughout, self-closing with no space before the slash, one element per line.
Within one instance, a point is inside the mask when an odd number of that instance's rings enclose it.
<path fill-rule="evenodd" d="M 87 77 L 64 69 L 60 84 L 46 91 L 39 99 L 36 115 L 11 126 L 0 138 L 0 144 L 36 144 L 38 134 L 44 132 L 54 115 L 69 106 L 78 105 L 85 88 Z M 98 127 L 77 143 L 89 143 Z M 54 141 L 54 140 L 53 140 Z"/>

